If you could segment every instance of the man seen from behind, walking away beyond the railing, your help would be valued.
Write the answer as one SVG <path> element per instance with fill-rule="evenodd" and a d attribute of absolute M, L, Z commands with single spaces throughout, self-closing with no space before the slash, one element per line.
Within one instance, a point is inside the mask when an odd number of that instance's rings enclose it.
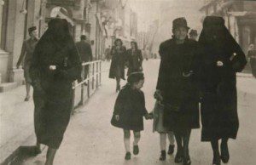
<path fill-rule="evenodd" d="M 83 63 L 89 62 L 92 60 L 91 47 L 90 47 L 90 44 L 86 42 L 85 35 L 81 35 L 80 41 L 76 43 L 76 47 L 79 50 L 79 54 Z M 82 71 L 83 80 L 87 78 L 88 72 L 89 72 L 89 65 L 84 65 L 84 70 Z M 84 83 L 84 85 L 87 85 L 87 83 Z"/>

